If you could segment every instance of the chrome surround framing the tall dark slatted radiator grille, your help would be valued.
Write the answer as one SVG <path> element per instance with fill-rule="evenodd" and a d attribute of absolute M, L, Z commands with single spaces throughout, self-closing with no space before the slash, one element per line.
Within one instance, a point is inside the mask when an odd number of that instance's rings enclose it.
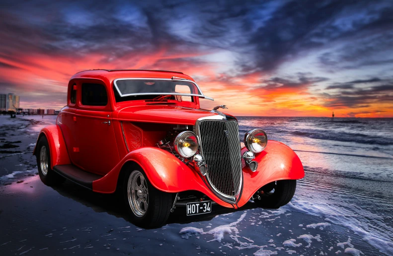
<path fill-rule="evenodd" d="M 199 118 L 199 119 L 195 122 L 195 126 L 194 126 L 194 132 L 195 132 L 195 134 L 197 134 L 198 139 L 200 139 L 200 136 L 201 136 L 201 135 L 200 135 L 200 130 L 199 130 L 199 124 L 200 124 L 200 122 L 203 122 L 203 121 L 228 122 L 228 121 L 226 120 L 226 117 L 223 117 L 223 116 L 221 116 L 221 115 L 214 115 L 214 116 L 208 116 L 208 117 Z M 231 120 L 231 121 L 232 121 L 232 120 Z M 236 120 L 234 120 L 234 121 L 237 123 Z M 237 126 L 238 126 L 238 124 L 237 124 Z M 237 136 L 239 137 L 239 131 L 238 131 L 238 129 L 237 129 Z M 239 142 L 240 142 L 240 137 L 239 137 Z M 199 143 L 198 146 L 199 146 L 199 149 L 200 149 L 200 154 L 203 156 L 202 143 Z M 239 143 L 239 159 L 241 159 L 241 148 L 240 148 L 240 143 Z M 209 168 L 209 166 L 208 166 L 208 168 Z M 238 189 L 237 189 L 237 192 L 236 192 L 236 195 L 235 195 L 235 196 L 230 196 L 230 195 L 227 195 L 227 194 L 224 194 L 224 193 L 218 191 L 217 188 L 213 185 L 212 181 L 210 180 L 209 171 L 208 171 L 208 174 L 205 175 L 205 176 L 203 176 L 203 177 L 205 177 L 205 179 L 206 179 L 206 181 L 207 181 L 207 184 L 210 186 L 211 190 L 213 190 L 213 192 L 216 193 L 216 195 L 218 195 L 219 197 L 224 198 L 224 201 L 227 201 L 227 202 L 229 202 L 229 203 L 236 203 L 236 201 L 239 199 L 239 198 L 237 198 L 237 196 L 239 196 L 239 195 L 241 194 L 241 192 L 242 192 L 242 187 L 243 187 L 243 171 L 242 171 L 241 168 L 240 168 L 240 181 L 239 181 L 239 187 L 238 187 Z"/>

